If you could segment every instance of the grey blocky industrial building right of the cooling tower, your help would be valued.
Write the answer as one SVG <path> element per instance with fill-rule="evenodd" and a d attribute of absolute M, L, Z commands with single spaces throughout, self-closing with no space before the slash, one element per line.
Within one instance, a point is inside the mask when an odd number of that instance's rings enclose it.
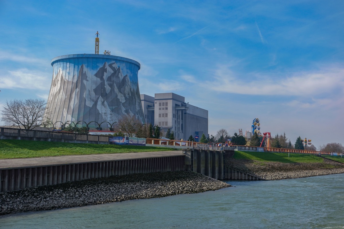
<path fill-rule="evenodd" d="M 208 136 L 207 110 L 185 103 L 183 96 L 174 93 L 140 96 L 147 124 L 158 125 L 164 133 L 174 131 L 175 139 L 186 140 L 192 135 L 199 141 L 202 134 Z"/>

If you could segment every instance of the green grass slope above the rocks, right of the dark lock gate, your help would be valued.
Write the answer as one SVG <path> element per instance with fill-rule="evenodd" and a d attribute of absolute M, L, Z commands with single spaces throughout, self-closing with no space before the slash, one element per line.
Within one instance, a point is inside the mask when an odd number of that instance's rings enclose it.
<path fill-rule="evenodd" d="M 276 161 L 283 163 L 315 163 L 323 162 L 323 158 L 308 155 L 308 154 L 297 154 L 290 153 L 273 153 L 273 152 L 247 152 L 247 151 L 235 151 L 234 159 L 250 159 L 256 161 Z M 344 158 L 343 158 L 344 159 Z"/>

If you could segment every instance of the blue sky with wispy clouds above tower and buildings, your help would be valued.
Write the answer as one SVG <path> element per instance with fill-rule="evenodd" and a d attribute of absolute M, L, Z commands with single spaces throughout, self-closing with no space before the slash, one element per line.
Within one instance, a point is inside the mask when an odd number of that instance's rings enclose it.
<path fill-rule="evenodd" d="M 209 134 L 344 145 L 344 1 L 0 0 L 0 110 L 47 100 L 51 60 L 99 50 L 141 64 L 141 94 L 208 110 Z M 0 121 L 0 125 L 3 125 Z"/>

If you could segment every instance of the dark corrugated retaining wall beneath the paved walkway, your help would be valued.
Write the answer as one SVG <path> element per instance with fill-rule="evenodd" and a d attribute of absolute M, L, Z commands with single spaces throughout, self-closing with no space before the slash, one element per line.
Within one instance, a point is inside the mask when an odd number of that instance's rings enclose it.
<path fill-rule="evenodd" d="M 0 192 L 131 173 L 183 171 L 185 156 L 0 169 Z"/>

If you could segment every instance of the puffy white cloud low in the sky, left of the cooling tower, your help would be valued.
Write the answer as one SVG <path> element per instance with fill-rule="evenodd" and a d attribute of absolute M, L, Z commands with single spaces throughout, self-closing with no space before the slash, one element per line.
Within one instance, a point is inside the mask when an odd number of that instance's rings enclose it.
<path fill-rule="evenodd" d="M 0 87 L 7 89 L 25 88 L 49 90 L 51 79 L 42 71 L 32 71 L 26 68 L 8 71 L 7 76 L 0 76 Z M 49 74 L 50 75 L 50 74 Z"/>

